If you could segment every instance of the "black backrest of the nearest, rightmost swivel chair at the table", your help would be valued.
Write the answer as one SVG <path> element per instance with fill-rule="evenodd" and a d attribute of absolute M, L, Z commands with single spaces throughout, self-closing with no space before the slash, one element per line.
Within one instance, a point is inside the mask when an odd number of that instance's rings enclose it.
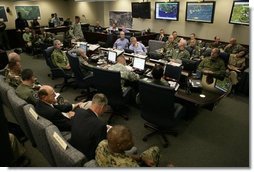
<path fill-rule="evenodd" d="M 174 118 L 175 91 L 170 87 L 139 81 L 141 116 L 147 122 L 160 125 Z"/>

